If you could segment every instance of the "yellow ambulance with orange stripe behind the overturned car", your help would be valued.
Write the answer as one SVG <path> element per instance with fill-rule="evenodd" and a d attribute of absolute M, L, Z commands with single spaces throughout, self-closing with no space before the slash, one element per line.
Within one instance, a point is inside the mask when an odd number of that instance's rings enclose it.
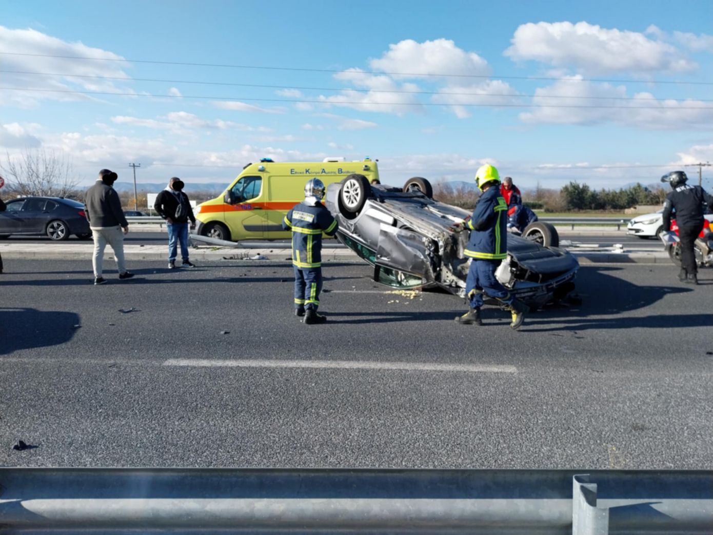
<path fill-rule="evenodd" d="M 307 180 L 316 177 L 327 186 L 352 173 L 366 176 L 369 182 L 379 178 L 376 161 L 369 158 L 290 163 L 263 158 L 260 163 L 248 163 L 222 195 L 198 205 L 195 232 L 232 241 L 289 238 L 291 234 L 282 230 L 282 219 L 304 200 Z"/>

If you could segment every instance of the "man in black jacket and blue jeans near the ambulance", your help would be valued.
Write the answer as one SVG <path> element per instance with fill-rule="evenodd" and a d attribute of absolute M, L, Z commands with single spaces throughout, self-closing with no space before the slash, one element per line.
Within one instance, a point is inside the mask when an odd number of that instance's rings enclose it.
<path fill-rule="evenodd" d="M 188 200 L 188 195 L 183 193 L 183 180 L 174 176 L 168 181 L 168 187 L 156 195 L 154 210 L 166 220 L 168 228 L 168 269 L 176 267 L 177 247 L 180 242 L 180 255 L 183 267 L 195 267 L 188 259 L 188 220 L 190 228 L 195 228 L 195 215 Z"/>

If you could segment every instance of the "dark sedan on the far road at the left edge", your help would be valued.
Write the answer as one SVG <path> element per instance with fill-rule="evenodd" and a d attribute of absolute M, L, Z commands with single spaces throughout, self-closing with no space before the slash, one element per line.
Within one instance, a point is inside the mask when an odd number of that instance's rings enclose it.
<path fill-rule="evenodd" d="M 84 205 L 59 197 L 24 197 L 7 201 L 0 212 L 0 238 L 11 234 L 46 235 L 51 240 L 67 240 L 74 234 L 91 238 Z"/>

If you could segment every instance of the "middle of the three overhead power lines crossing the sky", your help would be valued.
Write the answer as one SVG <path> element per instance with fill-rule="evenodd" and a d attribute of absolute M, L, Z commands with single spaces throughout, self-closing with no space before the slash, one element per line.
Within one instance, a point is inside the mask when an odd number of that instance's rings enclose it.
<path fill-rule="evenodd" d="M 253 87 L 268 89 L 301 89 L 304 91 L 358 91 L 360 93 L 399 93 L 407 95 L 457 95 L 457 96 L 506 96 L 511 98 L 580 98 L 587 100 L 607 100 L 607 101 L 664 101 L 672 100 L 665 97 L 630 97 L 630 96 L 570 96 L 570 95 L 540 95 L 540 94 L 513 94 L 513 93 L 478 93 L 472 91 L 405 91 L 399 89 L 360 89 L 360 88 L 339 88 L 339 87 L 308 87 L 308 86 L 273 86 L 261 83 L 232 83 L 214 82 L 202 80 L 165 80 L 162 78 L 125 78 L 124 76 L 97 76 L 93 74 L 64 74 L 64 73 L 38 73 L 34 71 L 5 71 L 0 73 L 29 74 L 33 76 L 61 76 L 63 78 L 90 78 L 98 80 L 120 80 L 139 82 L 161 82 L 161 83 L 191 83 L 202 86 L 233 86 L 233 87 Z M 713 99 L 696 98 L 697 102 L 713 102 Z"/>

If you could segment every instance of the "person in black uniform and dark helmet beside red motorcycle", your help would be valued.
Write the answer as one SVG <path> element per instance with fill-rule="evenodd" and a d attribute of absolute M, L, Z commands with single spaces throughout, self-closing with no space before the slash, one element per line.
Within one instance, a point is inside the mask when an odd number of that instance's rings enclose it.
<path fill-rule="evenodd" d="M 671 213 L 675 212 L 678 236 L 681 240 L 681 282 L 698 284 L 698 265 L 693 250 L 694 242 L 704 223 L 704 204 L 713 208 L 713 197 L 699 185 L 688 185 L 688 177 L 683 171 L 671 171 L 661 177 L 662 182 L 671 185 L 672 192 L 666 195 L 663 213 L 663 230 L 671 228 Z"/>

